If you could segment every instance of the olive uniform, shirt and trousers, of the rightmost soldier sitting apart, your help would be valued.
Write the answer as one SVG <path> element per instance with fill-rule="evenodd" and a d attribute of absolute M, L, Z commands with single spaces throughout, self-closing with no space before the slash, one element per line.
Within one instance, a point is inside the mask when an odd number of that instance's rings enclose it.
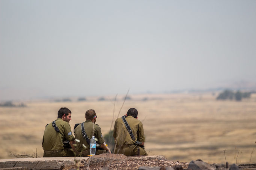
<path fill-rule="evenodd" d="M 132 116 L 127 116 L 125 119 L 133 131 L 135 140 L 131 139 L 130 133 L 126 129 L 122 118 L 117 118 L 114 124 L 113 132 L 113 137 L 116 138 L 114 141 L 114 154 L 124 154 L 126 156 L 148 155 L 143 148 L 135 145 L 136 140 L 139 142 L 145 142 L 142 122 Z"/>

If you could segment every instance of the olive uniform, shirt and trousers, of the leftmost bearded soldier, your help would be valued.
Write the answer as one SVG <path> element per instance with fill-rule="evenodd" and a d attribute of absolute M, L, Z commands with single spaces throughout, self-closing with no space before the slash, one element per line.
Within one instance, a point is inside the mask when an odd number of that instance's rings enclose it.
<path fill-rule="evenodd" d="M 58 118 L 56 120 L 56 126 L 60 132 L 56 132 L 52 123 L 48 124 L 44 130 L 42 142 L 44 157 L 73 157 L 74 151 L 63 147 L 65 140 L 75 140 L 69 123 Z"/>

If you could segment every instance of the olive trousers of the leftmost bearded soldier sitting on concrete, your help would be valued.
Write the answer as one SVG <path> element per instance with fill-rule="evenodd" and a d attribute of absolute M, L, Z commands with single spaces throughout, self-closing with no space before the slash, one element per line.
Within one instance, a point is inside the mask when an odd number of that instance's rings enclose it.
<path fill-rule="evenodd" d="M 44 157 L 74 157 L 73 149 L 64 148 L 60 150 L 44 151 Z"/>

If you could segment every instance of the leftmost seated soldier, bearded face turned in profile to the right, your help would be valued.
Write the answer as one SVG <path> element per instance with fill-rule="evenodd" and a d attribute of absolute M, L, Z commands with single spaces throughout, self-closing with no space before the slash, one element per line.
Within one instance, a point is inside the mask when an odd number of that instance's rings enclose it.
<path fill-rule="evenodd" d="M 42 147 L 44 157 L 74 157 L 75 137 L 72 135 L 69 121 L 71 120 L 71 111 L 68 108 L 60 108 L 58 118 L 50 124 L 47 124 L 44 130 Z M 64 147 L 63 142 L 69 140 L 72 147 Z"/>

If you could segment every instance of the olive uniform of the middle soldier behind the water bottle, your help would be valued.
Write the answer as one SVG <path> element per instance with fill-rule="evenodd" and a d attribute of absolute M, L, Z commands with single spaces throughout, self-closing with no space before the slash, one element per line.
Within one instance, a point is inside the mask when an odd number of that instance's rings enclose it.
<path fill-rule="evenodd" d="M 94 129 L 94 130 L 93 130 Z M 91 120 L 86 120 L 84 122 L 84 130 L 87 135 L 87 137 L 92 139 L 92 136 L 95 136 L 98 141 L 96 141 L 99 145 L 104 143 L 104 139 L 101 134 L 101 128 L 98 126 L 98 124 L 93 123 Z M 86 142 L 86 140 L 83 137 L 82 130 L 81 130 L 81 124 L 79 124 L 75 129 L 75 139 L 80 140 L 80 142 L 75 141 L 75 144 L 77 144 L 77 155 L 86 157 L 87 155 L 90 155 L 90 144 Z M 83 146 L 83 144 L 86 146 L 86 148 Z M 81 153 L 82 152 L 82 153 Z M 104 154 L 106 153 L 105 150 L 99 150 L 96 148 L 96 155 Z"/>

